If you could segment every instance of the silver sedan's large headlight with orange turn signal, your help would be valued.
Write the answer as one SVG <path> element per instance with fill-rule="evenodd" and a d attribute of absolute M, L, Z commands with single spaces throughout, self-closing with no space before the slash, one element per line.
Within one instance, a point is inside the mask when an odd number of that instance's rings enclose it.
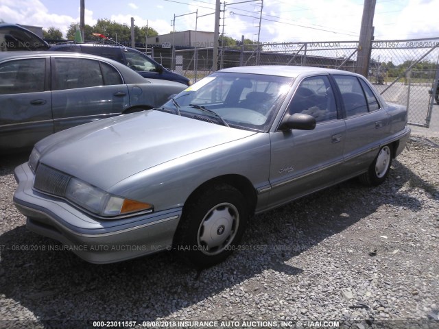
<path fill-rule="evenodd" d="M 110 195 L 77 178 L 71 178 L 65 197 L 71 202 L 103 217 L 120 217 L 134 212 L 152 212 L 153 206 L 144 202 Z"/>

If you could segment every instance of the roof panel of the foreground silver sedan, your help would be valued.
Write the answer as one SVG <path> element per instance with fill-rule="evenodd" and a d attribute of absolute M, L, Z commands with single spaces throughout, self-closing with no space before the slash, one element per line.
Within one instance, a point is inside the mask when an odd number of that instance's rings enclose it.
<path fill-rule="evenodd" d="M 231 67 L 229 69 L 222 69 L 221 71 L 218 72 L 277 75 L 279 77 L 293 77 L 293 78 L 296 78 L 299 75 L 313 75 L 313 74 L 357 75 L 356 73 L 351 73 L 342 70 L 335 70 L 335 69 L 325 69 L 321 67 L 286 66 L 286 65 L 238 66 L 238 67 Z"/>

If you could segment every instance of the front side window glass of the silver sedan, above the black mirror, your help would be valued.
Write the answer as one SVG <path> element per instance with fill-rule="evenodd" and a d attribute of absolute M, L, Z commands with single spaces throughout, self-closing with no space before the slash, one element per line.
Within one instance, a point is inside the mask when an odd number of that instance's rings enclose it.
<path fill-rule="evenodd" d="M 308 77 L 300 82 L 287 112 L 309 114 L 317 123 L 337 119 L 337 106 L 328 77 Z"/>

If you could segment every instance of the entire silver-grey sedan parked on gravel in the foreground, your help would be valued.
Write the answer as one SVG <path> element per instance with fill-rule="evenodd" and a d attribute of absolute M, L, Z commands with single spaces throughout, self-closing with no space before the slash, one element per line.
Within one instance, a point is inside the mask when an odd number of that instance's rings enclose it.
<path fill-rule="evenodd" d="M 210 266 L 253 214 L 355 176 L 381 184 L 406 124 L 404 106 L 354 73 L 224 69 L 161 108 L 40 141 L 15 169 L 14 204 L 29 230 L 91 263 L 174 246 Z"/>

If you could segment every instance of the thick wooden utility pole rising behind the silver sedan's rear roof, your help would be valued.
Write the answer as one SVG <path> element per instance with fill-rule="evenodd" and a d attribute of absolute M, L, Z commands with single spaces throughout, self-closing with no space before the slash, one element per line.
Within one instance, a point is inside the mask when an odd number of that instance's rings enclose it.
<path fill-rule="evenodd" d="M 359 32 L 356 73 L 368 77 L 371 42 L 373 39 L 373 16 L 377 0 L 364 0 L 363 18 Z"/>

